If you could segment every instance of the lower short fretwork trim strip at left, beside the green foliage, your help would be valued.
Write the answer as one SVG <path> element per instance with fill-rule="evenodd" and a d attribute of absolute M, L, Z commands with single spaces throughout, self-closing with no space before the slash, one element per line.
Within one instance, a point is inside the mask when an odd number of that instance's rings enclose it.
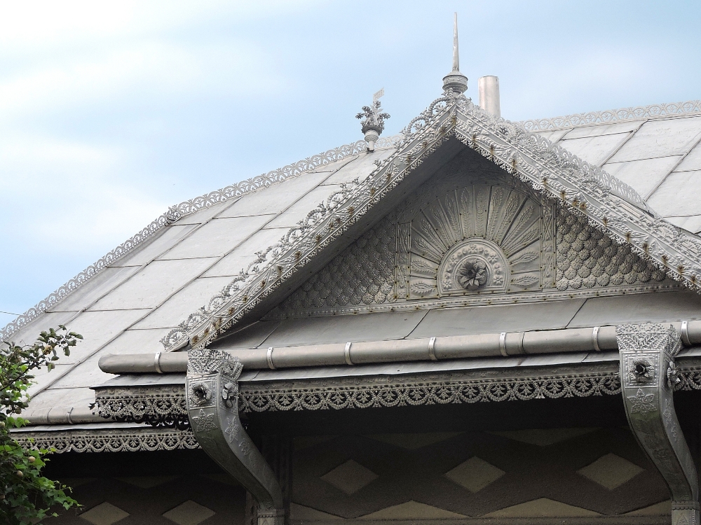
<path fill-rule="evenodd" d="M 32 449 L 55 449 L 64 452 L 137 452 L 198 449 L 200 445 L 190 430 L 140 428 L 135 430 L 67 430 L 22 432 L 15 440 Z M 30 441 L 31 440 L 31 441 Z"/>

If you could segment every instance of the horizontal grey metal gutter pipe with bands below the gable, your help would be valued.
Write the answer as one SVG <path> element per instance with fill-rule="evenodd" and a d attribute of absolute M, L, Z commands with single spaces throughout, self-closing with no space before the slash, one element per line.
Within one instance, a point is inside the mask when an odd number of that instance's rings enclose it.
<path fill-rule="evenodd" d="M 677 330 L 681 330 L 684 346 L 701 344 L 701 321 L 672 324 Z M 618 350 L 615 326 L 226 351 L 236 356 L 246 369 L 276 370 L 603 350 Z M 113 354 L 102 356 L 98 365 L 102 372 L 109 374 L 186 372 L 187 353 Z"/>

